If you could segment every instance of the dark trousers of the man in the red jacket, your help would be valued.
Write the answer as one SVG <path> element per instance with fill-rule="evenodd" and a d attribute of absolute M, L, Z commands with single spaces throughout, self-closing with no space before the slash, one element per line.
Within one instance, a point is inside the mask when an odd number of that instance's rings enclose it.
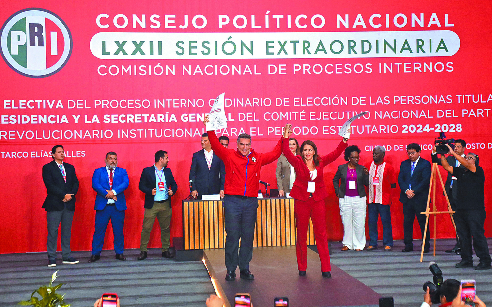
<path fill-rule="evenodd" d="M 253 259 L 253 238 L 256 225 L 258 199 L 241 196 L 225 195 L 224 226 L 225 232 L 225 266 L 227 271 L 249 270 L 249 262 Z M 241 248 L 239 249 L 239 239 Z"/>

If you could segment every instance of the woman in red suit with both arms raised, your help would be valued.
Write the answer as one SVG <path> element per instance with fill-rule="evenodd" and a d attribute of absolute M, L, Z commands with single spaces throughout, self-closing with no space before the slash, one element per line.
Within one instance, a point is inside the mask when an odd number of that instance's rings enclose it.
<path fill-rule="evenodd" d="M 325 183 L 323 182 L 323 167 L 337 159 L 347 147 L 348 139 L 344 138 L 333 152 L 325 156 L 318 155 L 316 145 L 312 141 L 307 140 L 301 145 L 301 155 L 294 156 L 289 149 L 289 137 L 291 135 L 292 125 L 287 124 L 283 133 L 282 151 L 287 161 L 289 161 L 296 171 L 296 180 L 290 191 L 290 196 L 296 200 L 294 214 L 297 228 L 297 268 L 299 275 L 306 275 L 306 240 L 309 218 L 311 218 L 319 259 L 321 261 L 322 275 L 323 277 L 331 277 L 324 202 L 324 199 L 328 197 L 328 192 L 326 192 Z"/>

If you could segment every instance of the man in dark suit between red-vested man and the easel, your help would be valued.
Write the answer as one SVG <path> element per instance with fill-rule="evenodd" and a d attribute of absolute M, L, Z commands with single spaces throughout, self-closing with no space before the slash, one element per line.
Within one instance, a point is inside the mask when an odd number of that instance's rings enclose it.
<path fill-rule="evenodd" d="M 426 211 L 427 197 L 429 195 L 429 183 L 431 182 L 431 163 L 420 157 L 420 145 L 409 144 L 406 146 L 408 159 L 401 162 L 398 174 L 398 185 L 401 189 L 400 202 L 403 204 L 403 233 L 405 248 L 402 252 L 413 251 L 413 222 L 415 216 L 420 225 L 422 238 L 426 217 L 420 214 Z M 429 227 L 426 234 L 427 241 L 424 245 L 424 253 L 429 252 Z"/>

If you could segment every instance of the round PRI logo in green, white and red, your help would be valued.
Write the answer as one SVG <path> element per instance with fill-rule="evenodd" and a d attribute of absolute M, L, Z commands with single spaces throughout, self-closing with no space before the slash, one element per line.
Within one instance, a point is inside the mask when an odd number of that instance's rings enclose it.
<path fill-rule="evenodd" d="M 28 8 L 3 24 L 0 46 L 10 68 L 26 77 L 43 78 L 65 66 L 72 53 L 72 35 L 56 14 Z"/>

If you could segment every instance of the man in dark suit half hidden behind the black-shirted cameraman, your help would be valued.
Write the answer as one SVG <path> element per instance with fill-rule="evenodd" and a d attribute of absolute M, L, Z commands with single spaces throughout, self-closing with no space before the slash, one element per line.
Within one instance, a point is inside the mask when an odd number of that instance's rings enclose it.
<path fill-rule="evenodd" d="M 464 140 L 461 139 L 455 140 L 455 148 L 453 149 L 453 151 L 456 154 L 464 158 L 465 149 L 466 149 L 466 142 Z M 453 156 L 447 156 L 446 161 L 450 166 L 465 168 Z M 442 165 L 441 159 L 439 159 L 439 157 L 437 156 L 437 150 L 432 151 L 432 163 L 437 163 L 438 165 Z M 453 189 L 453 185 L 455 185 L 454 189 Z M 446 190 L 446 194 L 448 195 L 449 203 L 451 204 L 451 209 L 453 209 L 453 211 L 456 211 L 456 203 L 458 201 L 458 189 L 456 188 L 456 177 L 450 173 L 448 173 L 448 177 L 446 178 L 446 183 L 444 184 L 444 190 Z M 458 236 L 456 237 L 455 247 L 452 248 L 451 250 L 447 250 L 446 252 L 448 253 L 454 252 L 456 254 L 460 254 L 461 248 L 460 248 L 460 241 L 458 240 Z"/>

